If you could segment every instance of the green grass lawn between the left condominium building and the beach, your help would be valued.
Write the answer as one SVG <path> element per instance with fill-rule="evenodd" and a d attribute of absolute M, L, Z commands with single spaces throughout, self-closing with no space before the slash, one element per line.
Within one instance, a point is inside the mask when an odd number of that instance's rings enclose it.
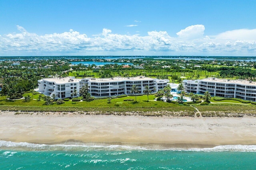
<path fill-rule="evenodd" d="M 27 93 L 24 95 L 28 95 Z M 34 95 L 34 99 L 37 99 L 39 95 Z M 108 103 L 107 99 L 98 99 L 93 101 L 65 101 L 62 105 L 44 105 L 44 101 L 30 100 L 24 102 L 23 99 L 15 101 L 6 101 L 5 97 L 0 99 L 0 109 L 2 110 L 25 110 L 25 111 L 194 111 L 194 108 L 177 105 L 173 103 L 166 103 L 163 101 L 151 101 L 156 98 L 154 95 L 149 95 L 149 100 L 147 95 L 137 96 L 137 102 L 135 101 L 135 96 L 127 96 L 112 99 L 111 103 Z M 134 99 L 134 101 L 124 101 L 124 99 Z"/>

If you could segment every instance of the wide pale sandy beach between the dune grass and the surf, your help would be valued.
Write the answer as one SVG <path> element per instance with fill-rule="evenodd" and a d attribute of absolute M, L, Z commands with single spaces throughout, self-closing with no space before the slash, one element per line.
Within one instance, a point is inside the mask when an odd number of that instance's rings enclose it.
<path fill-rule="evenodd" d="M 213 147 L 256 144 L 256 117 L 143 117 L 0 112 L 0 140 Z"/>

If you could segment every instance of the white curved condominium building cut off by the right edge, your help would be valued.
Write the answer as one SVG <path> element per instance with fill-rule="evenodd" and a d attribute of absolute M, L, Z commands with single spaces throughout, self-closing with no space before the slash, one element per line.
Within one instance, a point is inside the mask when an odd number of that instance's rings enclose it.
<path fill-rule="evenodd" d="M 188 93 L 204 94 L 208 91 L 212 96 L 256 101 L 256 82 L 253 81 L 207 78 L 184 80 L 183 83 Z"/>

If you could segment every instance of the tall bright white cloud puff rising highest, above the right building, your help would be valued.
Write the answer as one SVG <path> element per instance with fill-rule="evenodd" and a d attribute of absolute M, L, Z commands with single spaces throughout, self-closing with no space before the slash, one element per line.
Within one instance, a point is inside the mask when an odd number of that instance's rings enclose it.
<path fill-rule="evenodd" d="M 176 33 L 180 38 L 195 39 L 202 38 L 204 35 L 204 26 L 203 25 L 194 25 L 180 30 Z"/>

